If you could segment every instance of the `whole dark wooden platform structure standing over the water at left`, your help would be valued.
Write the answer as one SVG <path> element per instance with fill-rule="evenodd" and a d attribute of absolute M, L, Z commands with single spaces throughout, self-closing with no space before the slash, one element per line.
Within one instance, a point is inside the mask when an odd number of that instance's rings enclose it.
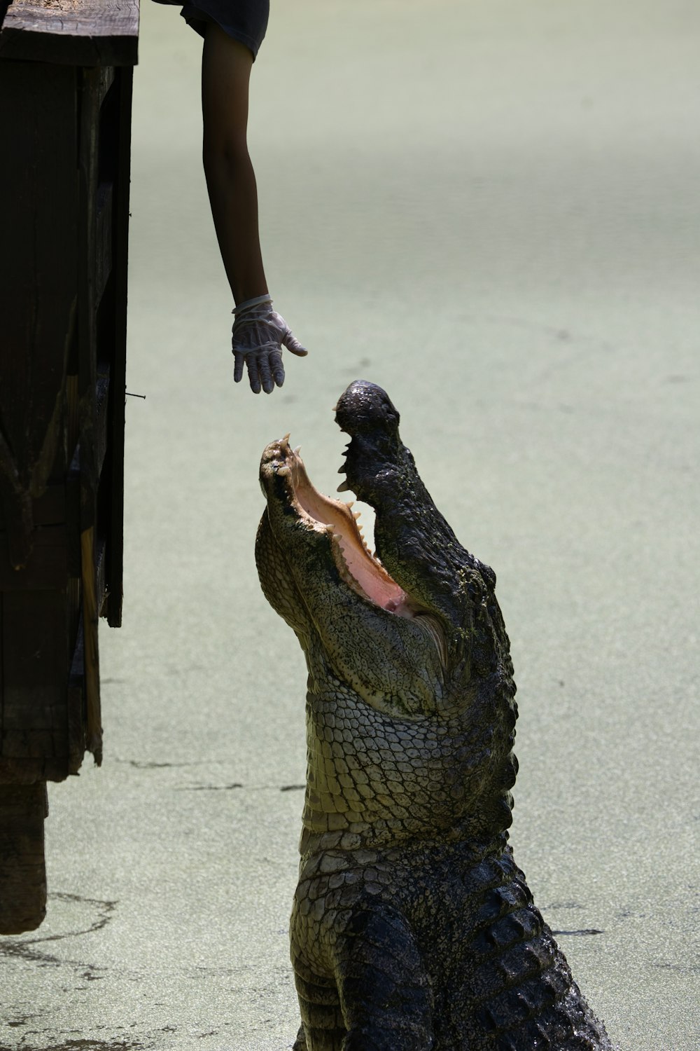
<path fill-rule="evenodd" d="M 139 0 L 15 0 L 0 32 L 0 933 L 43 916 L 45 782 L 102 760 L 137 33 Z"/>

